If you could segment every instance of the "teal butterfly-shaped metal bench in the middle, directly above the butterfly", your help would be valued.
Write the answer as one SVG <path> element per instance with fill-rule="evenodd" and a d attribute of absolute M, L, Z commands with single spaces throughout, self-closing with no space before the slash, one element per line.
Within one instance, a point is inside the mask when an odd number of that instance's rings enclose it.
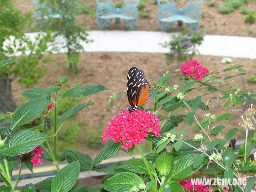
<path fill-rule="evenodd" d="M 115 19 L 116 23 L 120 23 L 120 19 L 122 19 L 125 28 L 134 29 L 138 18 L 139 2 L 140 0 L 126 0 L 121 8 L 116 8 L 111 0 L 96 0 L 98 25 L 102 29 L 107 29 L 112 19 Z"/>

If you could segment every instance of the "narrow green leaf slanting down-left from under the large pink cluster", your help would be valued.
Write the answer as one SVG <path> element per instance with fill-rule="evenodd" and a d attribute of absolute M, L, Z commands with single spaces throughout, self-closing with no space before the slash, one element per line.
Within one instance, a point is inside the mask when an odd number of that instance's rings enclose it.
<path fill-rule="evenodd" d="M 112 141 L 108 141 L 112 142 Z M 106 145 L 104 149 L 96 156 L 96 158 L 93 160 L 93 165 L 97 165 L 103 160 L 106 160 L 110 157 L 112 157 L 114 154 L 116 154 L 122 146 L 122 142 L 114 143 L 112 142 L 109 145 Z"/>

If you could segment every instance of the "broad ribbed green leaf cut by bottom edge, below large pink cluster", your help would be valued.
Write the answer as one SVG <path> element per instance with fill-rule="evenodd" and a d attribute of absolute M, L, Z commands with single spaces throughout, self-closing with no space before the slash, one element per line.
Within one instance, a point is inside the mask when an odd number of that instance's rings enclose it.
<path fill-rule="evenodd" d="M 132 172 L 118 173 L 108 178 L 103 184 L 103 188 L 110 192 L 131 192 L 134 186 L 139 189 L 139 186 L 143 187 L 145 183 L 140 176 Z"/>

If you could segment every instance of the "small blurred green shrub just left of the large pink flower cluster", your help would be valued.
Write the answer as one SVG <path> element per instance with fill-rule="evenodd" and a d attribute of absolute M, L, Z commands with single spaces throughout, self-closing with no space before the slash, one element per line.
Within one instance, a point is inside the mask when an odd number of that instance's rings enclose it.
<path fill-rule="evenodd" d="M 102 140 L 99 139 L 102 136 L 102 130 L 104 130 L 105 126 L 100 125 L 99 127 L 92 127 L 84 134 L 86 138 L 84 139 L 84 143 L 92 148 L 100 148 L 102 144 Z"/>

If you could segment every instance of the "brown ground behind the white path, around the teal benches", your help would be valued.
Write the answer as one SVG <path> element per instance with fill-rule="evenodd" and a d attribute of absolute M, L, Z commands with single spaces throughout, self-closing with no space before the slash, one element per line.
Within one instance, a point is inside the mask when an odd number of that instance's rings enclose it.
<path fill-rule="evenodd" d="M 246 15 L 242 14 L 239 8 L 229 14 L 221 14 L 218 12 L 218 8 L 224 3 L 221 0 L 214 0 L 218 3 L 217 6 L 209 7 L 208 3 L 213 2 L 212 0 L 205 0 L 203 2 L 200 20 L 200 30 L 205 30 L 207 34 L 211 35 L 230 35 L 230 36 L 251 36 L 247 30 L 252 24 L 245 22 L 244 18 Z M 123 0 L 113 0 L 114 3 L 123 2 Z M 183 2 L 183 1 L 182 1 Z M 96 10 L 97 4 L 94 0 L 84 0 L 84 3 Z M 180 6 L 184 5 L 181 3 Z M 14 0 L 14 5 L 17 6 L 23 13 L 34 10 L 32 0 Z M 256 1 L 252 1 L 246 6 L 251 11 L 256 10 Z M 135 30 L 139 31 L 160 31 L 158 25 L 158 5 L 155 4 L 155 0 L 146 0 L 146 7 L 139 11 L 139 14 L 148 13 L 148 18 L 139 16 L 138 23 Z M 100 30 L 96 22 L 96 15 L 91 16 L 89 14 L 82 14 L 77 17 L 77 22 L 83 26 L 91 26 L 92 30 Z M 174 23 L 171 32 L 182 30 L 186 25 L 178 26 L 178 22 Z M 114 23 L 108 30 L 125 30 L 124 24 Z"/>

